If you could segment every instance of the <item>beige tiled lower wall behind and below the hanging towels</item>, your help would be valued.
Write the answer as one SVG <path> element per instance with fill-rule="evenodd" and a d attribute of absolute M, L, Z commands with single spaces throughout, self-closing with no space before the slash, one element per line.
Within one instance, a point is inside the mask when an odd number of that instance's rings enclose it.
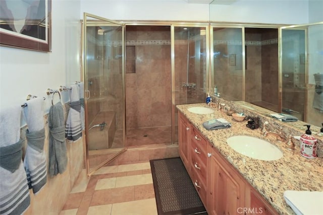
<path fill-rule="evenodd" d="M 65 119 L 68 114 L 68 105 L 64 105 Z M 49 144 L 49 128 L 47 121 L 48 114 L 45 115 L 45 143 L 44 150 L 47 157 L 47 172 L 48 172 L 48 144 Z M 21 129 L 21 139 L 24 141 L 24 151 L 27 146 L 26 139 L 26 129 L 27 126 Z M 78 178 L 84 166 L 84 146 L 85 146 L 85 136 L 78 139 L 75 142 L 69 142 L 66 140 L 67 146 L 67 157 L 68 164 L 65 172 L 63 174 L 58 174 L 54 177 L 49 177 L 47 175 L 47 183 L 45 186 L 34 195 L 32 190 L 29 190 L 31 197 L 31 204 L 25 215 L 34 214 L 59 214 L 62 210 L 71 189 L 73 188 L 74 182 Z"/>

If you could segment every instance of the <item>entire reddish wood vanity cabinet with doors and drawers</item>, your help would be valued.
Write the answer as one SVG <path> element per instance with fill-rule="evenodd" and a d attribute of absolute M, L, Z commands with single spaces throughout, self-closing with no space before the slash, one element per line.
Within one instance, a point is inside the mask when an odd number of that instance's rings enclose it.
<path fill-rule="evenodd" d="M 179 112 L 179 154 L 209 215 L 278 214 Z"/>

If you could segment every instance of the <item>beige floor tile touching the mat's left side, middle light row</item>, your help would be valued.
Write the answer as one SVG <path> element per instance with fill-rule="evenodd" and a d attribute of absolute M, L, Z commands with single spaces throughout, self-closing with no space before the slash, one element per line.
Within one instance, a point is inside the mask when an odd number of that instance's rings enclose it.
<path fill-rule="evenodd" d="M 116 187 L 127 187 L 141 184 L 152 184 L 151 174 L 124 176 L 119 177 L 116 180 Z"/>

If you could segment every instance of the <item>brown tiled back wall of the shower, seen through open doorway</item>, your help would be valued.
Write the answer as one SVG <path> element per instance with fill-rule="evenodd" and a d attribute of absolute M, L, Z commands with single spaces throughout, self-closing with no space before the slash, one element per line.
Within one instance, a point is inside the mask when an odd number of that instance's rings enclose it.
<path fill-rule="evenodd" d="M 135 72 L 126 71 L 127 129 L 171 126 L 171 32 L 165 26 L 129 26 L 126 44 L 135 46 Z"/>

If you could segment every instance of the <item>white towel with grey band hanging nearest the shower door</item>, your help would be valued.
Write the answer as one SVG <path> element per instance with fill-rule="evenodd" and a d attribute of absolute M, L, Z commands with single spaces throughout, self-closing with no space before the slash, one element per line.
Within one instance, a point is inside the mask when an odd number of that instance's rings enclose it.
<path fill-rule="evenodd" d="M 82 137 L 80 88 L 78 85 L 72 85 L 70 99 L 70 111 L 66 120 L 65 137 L 70 141 L 76 141 Z"/>

